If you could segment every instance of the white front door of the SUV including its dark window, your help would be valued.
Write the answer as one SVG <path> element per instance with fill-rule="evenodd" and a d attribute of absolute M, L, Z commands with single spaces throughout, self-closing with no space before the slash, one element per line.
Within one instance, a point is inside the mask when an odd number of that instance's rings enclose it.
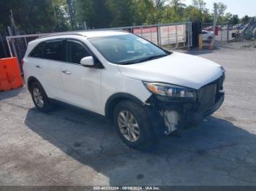
<path fill-rule="evenodd" d="M 62 67 L 62 79 L 70 104 L 99 112 L 101 69 L 82 66 L 80 61 L 92 56 L 85 44 L 67 40 L 67 63 Z"/>

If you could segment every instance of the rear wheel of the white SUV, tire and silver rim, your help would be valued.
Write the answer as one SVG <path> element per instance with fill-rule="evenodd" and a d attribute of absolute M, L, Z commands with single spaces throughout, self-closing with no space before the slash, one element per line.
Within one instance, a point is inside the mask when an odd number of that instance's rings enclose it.
<path fill-rule="evenodd" d="M 39 82 L 34 82 L 31 85 L 30 92 L 34 105 L 40 112 L 50 112 L 53 110 L 53 105 L 50 104 L 48 96 L 46 95 L 45 90 L 43 89 L 42 85 L 39 84 Z"/>

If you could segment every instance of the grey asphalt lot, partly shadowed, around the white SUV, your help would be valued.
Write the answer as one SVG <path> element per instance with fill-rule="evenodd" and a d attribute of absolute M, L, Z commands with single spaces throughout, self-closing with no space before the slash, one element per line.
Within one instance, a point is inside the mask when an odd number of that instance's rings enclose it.
<path fill-rule="evenodd" d="M 256 49 L 196 51 L 227 70 L 225 103 L 147 152 L 104 117 L 37 112 L 25 87 L 0 93 L 0 185 L 256 185 Z"/>

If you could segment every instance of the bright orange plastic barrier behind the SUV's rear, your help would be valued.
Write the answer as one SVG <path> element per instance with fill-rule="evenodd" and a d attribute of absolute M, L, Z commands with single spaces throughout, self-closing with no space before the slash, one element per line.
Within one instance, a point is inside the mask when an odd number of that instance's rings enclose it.
<path fill-rule="evenodd" d="M 23 79 L 17 58 L 0 59 L 0 91 L 7 91 L 23 86 Z"/>

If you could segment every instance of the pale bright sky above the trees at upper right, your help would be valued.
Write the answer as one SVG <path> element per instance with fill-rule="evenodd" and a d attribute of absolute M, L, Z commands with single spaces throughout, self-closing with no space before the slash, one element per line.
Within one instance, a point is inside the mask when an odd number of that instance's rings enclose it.
<path fill-rule="evenodd" d="M 231 12 L 233 15 L 243 17 L 244 15 L 256 16 L 256 0 L 204 0 L 206 8 L 213 10 L 214 2 L 222 2 L 227 5 L 226 12 Z M 183 3 L 192 4 L 192 0 L 183 0 Z"/>

